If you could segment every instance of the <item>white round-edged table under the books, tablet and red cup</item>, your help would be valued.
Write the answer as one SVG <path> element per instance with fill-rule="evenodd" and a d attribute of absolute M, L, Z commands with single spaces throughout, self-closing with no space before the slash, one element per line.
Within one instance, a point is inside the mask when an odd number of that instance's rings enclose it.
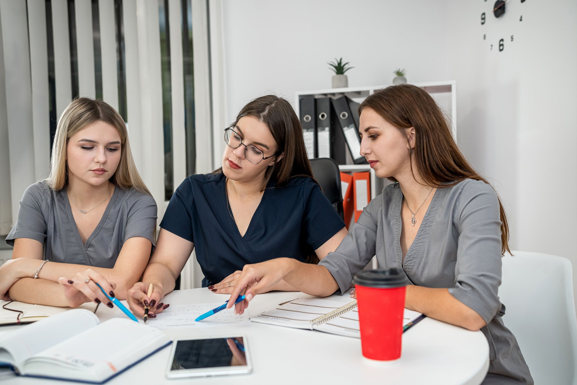
<path fill-rule="evenodd" d="M 275 305 L 298 297 L 311 297 L 298 292 L 273 292 L 257 295 L 248 311 L 256 315 Z M 208 289 L 177 290 L 163 299 L 164 303 L 222 302 L 227 295 Z M 328 299 L 349 302 L 349 295 Z M 106 320 L 117 308 L 100 305 L 97 315 Z M 151 320 L 153 322 L 153 320 Z M 0 333 L 16 327 L 1 327 Z M 24 326 L 25 327 L 25 326 Z M 250 326 L 204 327 L 164 331 L 171 338 L 186 338 L 210 334 L 244 334 L 252 354 L 252 373 L 197 379 L 171 379 L 164 373 L 170 348 L 138 363 L 110 380 L 107 384 L 479 384 L 489 368 L 489 345 L 481 331 L 469 331 L 434 319 L 425 318 L 403 334 L 402 356 L 393 367 L 376 367 L 361 354 L 361 340 L 322 333 L 291 329 L 261 323 Z M 45 379 L 9 377 L 6 384 L 61 383 Z"/>

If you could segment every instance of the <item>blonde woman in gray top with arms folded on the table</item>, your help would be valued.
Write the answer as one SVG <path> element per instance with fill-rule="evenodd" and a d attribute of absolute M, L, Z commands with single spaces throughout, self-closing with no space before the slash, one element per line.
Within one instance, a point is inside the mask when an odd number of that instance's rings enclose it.
<path fill-rule="evenodd" d="M 0 299 L 112 307 L 94 281 L 125 299 L 148 263 L 155 227 L 156 203 L 123 119 L 104 101 L 76 99 L 58 122 L 50 176 L 24 192 L 6 237 L 14 250 L 0 267 Z"/>

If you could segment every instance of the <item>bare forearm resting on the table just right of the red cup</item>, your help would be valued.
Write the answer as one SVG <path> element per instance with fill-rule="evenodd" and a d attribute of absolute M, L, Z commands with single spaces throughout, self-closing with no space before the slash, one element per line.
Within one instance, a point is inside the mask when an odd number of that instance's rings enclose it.
<path fill-rule="evenodd" d="M 404 305 L 430 318 L 469 330 L 479 330 L 486 325 L 477 312 L 452 296 L 449 289 L 407 285 Z"/>

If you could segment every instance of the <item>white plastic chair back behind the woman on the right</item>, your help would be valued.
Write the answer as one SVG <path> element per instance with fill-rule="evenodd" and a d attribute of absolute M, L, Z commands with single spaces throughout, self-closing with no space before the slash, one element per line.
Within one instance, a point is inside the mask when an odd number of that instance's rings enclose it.
<path fill-rule="evenodd" d="M 577 319 L 571 262 L 539 252 L 503 257 L 503 322 L 535 384 L 577 385 Z"/>

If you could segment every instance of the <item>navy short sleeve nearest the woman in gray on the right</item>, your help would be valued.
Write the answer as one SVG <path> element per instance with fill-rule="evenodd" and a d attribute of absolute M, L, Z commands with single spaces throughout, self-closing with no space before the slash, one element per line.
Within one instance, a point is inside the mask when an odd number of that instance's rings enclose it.
<path fill-rule="evenodd" d="M 344 227 L 344 222 L 313 180 L 307 181 L 303 191 L 305 211 L 302 231 L 306 243 L 317 250 Z"/>

